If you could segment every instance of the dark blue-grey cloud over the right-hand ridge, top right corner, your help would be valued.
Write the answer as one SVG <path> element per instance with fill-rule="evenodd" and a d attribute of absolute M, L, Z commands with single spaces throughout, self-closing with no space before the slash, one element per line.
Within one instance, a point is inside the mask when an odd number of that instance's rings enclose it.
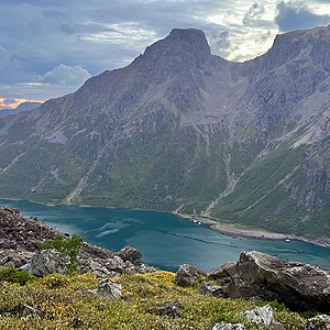
<path fill-rule="evenodd" d="M 279 2 L 276 6 L 275 22 L 279 31 L 287 32 L 310 29 L 330 23 L 330 15 L 314 13 L 304 2 Z"/>

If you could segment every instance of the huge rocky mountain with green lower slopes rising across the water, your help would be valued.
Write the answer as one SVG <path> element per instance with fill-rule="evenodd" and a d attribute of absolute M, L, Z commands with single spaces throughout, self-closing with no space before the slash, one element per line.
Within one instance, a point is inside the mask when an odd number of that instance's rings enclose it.
<path fill-rule="evenodd" d="M 0 120 L 3 198 L 201 213 L 330 237 L 330 25 L 245 63 L 174 29 L 129 66 Z"/>

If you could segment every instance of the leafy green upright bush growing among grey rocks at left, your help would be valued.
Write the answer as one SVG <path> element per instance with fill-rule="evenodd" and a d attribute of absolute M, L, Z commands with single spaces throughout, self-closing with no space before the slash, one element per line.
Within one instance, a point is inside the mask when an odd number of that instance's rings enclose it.
<path fill-rule="evenodd" d="M 85 238 L 73 234 L 69 240 L 66 240 L 63 235 L 56 235 L 54 240 L 50 240 L 45 243 L 38 243 L 37 248 L 42 250 L 55 249 L 59 252 L 61 257 L 68 256 L 70 263 L 67 265 L 69 272 L 77 271 L 78 266 L 78 253 L 82 246 Z"/>

